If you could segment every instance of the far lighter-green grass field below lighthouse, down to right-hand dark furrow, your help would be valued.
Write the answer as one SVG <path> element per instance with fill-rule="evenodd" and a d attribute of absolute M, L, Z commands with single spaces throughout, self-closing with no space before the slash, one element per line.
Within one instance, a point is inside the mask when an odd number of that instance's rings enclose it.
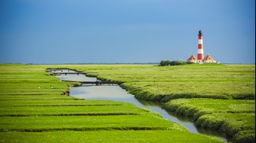
<path fill-rule="evenodd" d="M 142 100 L 255 99 L 255 65 L 66 65 L 122 87 Z"/>

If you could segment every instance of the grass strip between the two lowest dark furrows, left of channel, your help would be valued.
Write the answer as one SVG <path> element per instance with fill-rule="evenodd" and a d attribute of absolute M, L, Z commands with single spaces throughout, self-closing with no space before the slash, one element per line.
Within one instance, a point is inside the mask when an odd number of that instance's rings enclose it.
<path fill-rule="evenodd" d="M 146 115 L 119 116 L 25 116 L 1 117 L 2 132 L 90 131 L 90 130 L 181 130 L 180 125 Z"/>

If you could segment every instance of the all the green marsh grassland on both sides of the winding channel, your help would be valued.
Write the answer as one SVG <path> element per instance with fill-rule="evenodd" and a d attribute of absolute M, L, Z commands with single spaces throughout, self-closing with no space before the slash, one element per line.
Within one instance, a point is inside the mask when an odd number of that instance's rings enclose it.
<path fill-rule="evenodd" d="M 219 130 L 234 142 L 255 140 L 255 66 L 193 64 L 0 65 L 2 141 L 219 142 L 130 103 L 62 95 L 78 83 L 59 81 L 47 68 L 122 81 L 138 99 L 166 103 L 165 109 L 189 116 L 197 126 Z"/>

